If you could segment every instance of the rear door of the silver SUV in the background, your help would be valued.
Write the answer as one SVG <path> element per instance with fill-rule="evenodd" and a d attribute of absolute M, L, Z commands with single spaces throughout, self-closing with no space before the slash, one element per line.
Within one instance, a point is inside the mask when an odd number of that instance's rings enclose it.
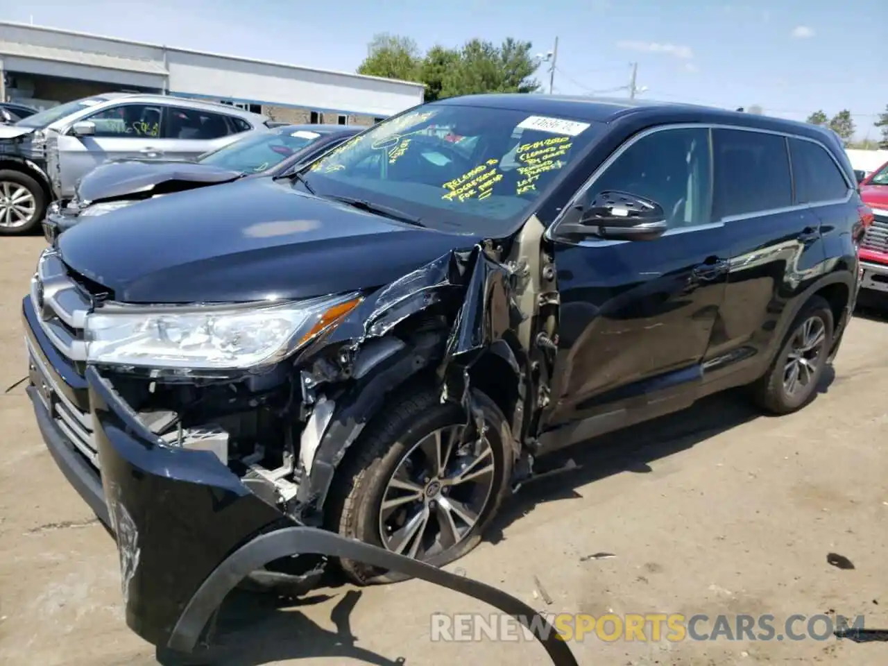
<path fill-rule="evenodd" d="M 163 129 L 165 157 L 194 160 L 226 146 L 250 131 L 250 123 L 234 115 L 189 107 L 167 107 Z"/>

